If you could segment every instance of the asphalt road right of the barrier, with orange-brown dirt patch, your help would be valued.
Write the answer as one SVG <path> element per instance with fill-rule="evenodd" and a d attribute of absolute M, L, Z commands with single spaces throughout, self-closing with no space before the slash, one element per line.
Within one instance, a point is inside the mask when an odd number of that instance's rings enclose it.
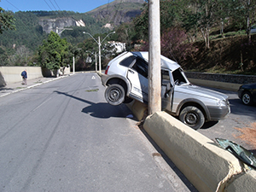
<path fill-rule="evenodd" d="M 218 91 L 229 96 L 231 113 L 218 122 L 206 123 L 199 132 L 214 141 L 217 137 L 229 139 L 256 154 L 256 105 L 243 105 L 237 92 Z"/>

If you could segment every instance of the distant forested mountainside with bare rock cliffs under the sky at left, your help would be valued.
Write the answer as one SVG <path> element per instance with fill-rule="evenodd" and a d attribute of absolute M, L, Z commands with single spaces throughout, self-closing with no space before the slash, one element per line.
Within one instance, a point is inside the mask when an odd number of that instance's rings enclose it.
<path fill-rule="evenodd" d="M 90 34 L 109 32 L 113 26 L 140 15 L 143 3 L 143 0 L 115 0 L 84 14 L 72 11 L 19 11 L 14 14 L 16 31 L 3 32 L 0 46 L 3 49 L 26 46 L 35 50 L 47 33 L 61 32 L 64 27 L 72 27 L 73 31 L 62 32 L 61 37 L 78 44 L 84 40 L 84 31 Z"/>

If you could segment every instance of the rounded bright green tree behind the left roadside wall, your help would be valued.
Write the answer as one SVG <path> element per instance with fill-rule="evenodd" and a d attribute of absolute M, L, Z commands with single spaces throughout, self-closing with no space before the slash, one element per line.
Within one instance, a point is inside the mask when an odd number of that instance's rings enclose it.
<path fill-rule="evenodd" d="M 68 67 L 72 63 L 73 53 L 71 46 L 65 38 L 55 32 L 50 32 L 47 40 L 38 49 L 38 61 L 41 67 L 46 67 L 56 72 L 61 67 Z"/>

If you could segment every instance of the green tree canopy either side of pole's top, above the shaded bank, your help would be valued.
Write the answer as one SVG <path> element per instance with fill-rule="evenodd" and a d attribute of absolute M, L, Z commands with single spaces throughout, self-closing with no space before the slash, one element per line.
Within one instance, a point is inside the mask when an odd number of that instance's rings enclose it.
<path fill-rule="evenodd" d="M 148 1 L 147 1 L 148 2 Z M 148 39 L 148 5 L 141 15 L 133 20 L 137 38 Z M 182 26 L 190 41 L 201 37 L 210 48 L 212 28 L 219 27 L 223 35 L 224 27 L 233 30 L 246 29 L 249 37 L 250 27 L 256 22 L 255 0 L 160 0 L 161 33 L 172 27 Z"/>

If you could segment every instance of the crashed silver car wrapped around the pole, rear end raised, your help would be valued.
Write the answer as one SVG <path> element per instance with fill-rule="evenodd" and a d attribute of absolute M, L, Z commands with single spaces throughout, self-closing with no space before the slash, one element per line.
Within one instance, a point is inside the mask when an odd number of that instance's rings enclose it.
<path fill-rule="evenodd" d="M 189 83 L 182 68 L 161 55 L 161 107 L 197 130 L 230 113 L 228 96 Z M 102 84 L 111 105 L 148 102 L 148 52 L 125 52 L 108 63 Z"/>

